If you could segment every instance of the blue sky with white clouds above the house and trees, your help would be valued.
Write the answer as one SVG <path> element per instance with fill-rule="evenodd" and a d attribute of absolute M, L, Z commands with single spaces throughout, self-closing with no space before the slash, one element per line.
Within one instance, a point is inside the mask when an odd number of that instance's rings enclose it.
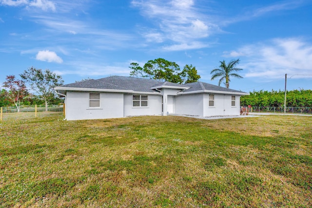
<path fill-rule="evenodd" d="M 129 76 L 132 62 L 196 67 L 240 58 L 230 88 L 312 89 L 311 0 L 0 0 L 0 83 L 29 67 L 65 83 Z"/>

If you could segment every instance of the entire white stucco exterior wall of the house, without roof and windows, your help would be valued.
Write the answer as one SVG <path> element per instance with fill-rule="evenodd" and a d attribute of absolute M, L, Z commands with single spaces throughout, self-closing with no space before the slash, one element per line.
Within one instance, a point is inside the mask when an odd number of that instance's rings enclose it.
<path fill-rule="evenodd" d="M 169 113 L 220 116 L 239 115 L 240 95 L 235 95 L 235 106 L 232 106 L 232 95 L 215 95 L 215 105 L 209 106 L 209 94 L 176 95 L 178 90 L 167 89 L 163 92 L 166 97 L 164 115 Z M 161 115 L 162 95 L 148 95 L 147 107 L 133 107 L 133 95 L 123 93 L 100 93 L 100 107 L 89 107 L 89 92 L 67 91 L 66 118 L 67 120 L 105 119 L 138 115 Z"/>

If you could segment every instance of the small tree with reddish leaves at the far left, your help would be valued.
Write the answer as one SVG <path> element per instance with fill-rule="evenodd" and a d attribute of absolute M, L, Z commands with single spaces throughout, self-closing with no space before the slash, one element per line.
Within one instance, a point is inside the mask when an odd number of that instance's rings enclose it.
<path fill-rule="evenodd" d="M 14 75 L 6 76 L 6 81 L 3 82 L 3 87 L 9 89 L 6 96 L 14 103 L 18 112 L 20 112 L 20 102 L 24 96 L 28 94 L 25 82 L 16 79 Z M 5 92 L 4 92 L 5 93 Z"/>

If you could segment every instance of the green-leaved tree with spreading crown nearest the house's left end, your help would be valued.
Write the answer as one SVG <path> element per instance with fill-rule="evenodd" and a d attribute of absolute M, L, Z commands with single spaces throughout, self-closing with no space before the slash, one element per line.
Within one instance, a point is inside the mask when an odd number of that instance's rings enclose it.
<path fill-rule="evenodd" d="M 20 76 L 44 100 L 45 111 L 48 111 L 48 103 L 56 96 L 54 87 L 64 83 L 62 77 L 48 69 L 42 71 L 34 67 L 25 70 Z"/>

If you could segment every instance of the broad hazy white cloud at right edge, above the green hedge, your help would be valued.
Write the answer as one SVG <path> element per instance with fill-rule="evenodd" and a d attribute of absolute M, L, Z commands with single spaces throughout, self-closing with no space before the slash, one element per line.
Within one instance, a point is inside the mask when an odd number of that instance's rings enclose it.
<path fill-rule="evenodd" d="M 248 71 L 245 77 L 274 79 L 285 74 L 312 75 L 312 43 L 300 38 L 276 38 L 225 54 L 240 57 L 240 68 Z M 250 61 L 244 61 L 244 57 Z"/>

